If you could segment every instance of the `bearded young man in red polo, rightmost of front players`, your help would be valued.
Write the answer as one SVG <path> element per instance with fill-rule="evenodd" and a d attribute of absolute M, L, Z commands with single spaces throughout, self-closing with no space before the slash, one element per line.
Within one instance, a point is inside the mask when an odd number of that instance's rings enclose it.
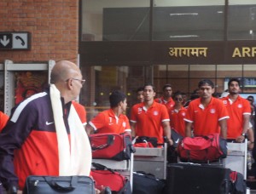
<path fill-rule="evenodd" d="M 251 106 L 248 100 L 239 95 L 240 81 L 237 78 L 231 78 L 228 87 L 230 94 L 221 99 L 230 115 L 227 139 L 242 142 L 249 128 Z"/>

